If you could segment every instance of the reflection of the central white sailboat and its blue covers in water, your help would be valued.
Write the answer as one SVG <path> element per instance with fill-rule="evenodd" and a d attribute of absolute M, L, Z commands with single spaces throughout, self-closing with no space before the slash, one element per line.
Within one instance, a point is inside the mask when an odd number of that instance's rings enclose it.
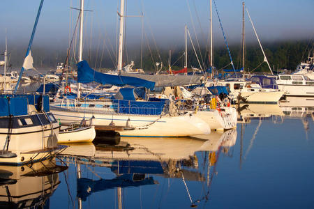
<path fill-rule="evenodd" d="M 121 189 L 156 185 L 156 178 L 181 179 L 187 192 L 188 181 L 210 185 L 215 173 L 210 167 L 218 161 L 218 153 L 227 154 L 236 140 L 237 130 L 188 138 L 122 137 L 118 146 L 68 144 L 59 157 L 77 167 L 77 205 L 82 208 L 82 201 L 95 192 L 117 188 L 121 200 Z M 103 178 L 100 168 L 110 169 L 114 178 Z"/>

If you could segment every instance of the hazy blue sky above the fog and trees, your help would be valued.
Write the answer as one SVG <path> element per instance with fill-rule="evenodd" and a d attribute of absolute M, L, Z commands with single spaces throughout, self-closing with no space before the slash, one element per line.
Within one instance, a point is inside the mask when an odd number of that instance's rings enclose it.
<path fill-rule="evenodd" d="M 216 0 L 227 40 L 241 44 L 241 0 Z M 40 0 L 1 0 L 0 45 L 20 43 L 27 47 Z M 313 40 L 314 0 L 248 0 L 246 7 L 262 42 L 270 40 Z M 117 33 L 117 0 L 85 0 L 84 45 L 100 45 L 104 40 L 114 45 Z M 214 6 L 214 2 L 213 2 Z M 68 45 L 79 8 L 79 0 L 45 0 L 40 15 L 34 45 L 59 47 Z M 141 41 L 142 21 L 147 39 L 156 45 L 184 45 L 184 25 L 193 38 L 207 39 L 209 31 L 209 1 L 205 0 L 126 0 L 126 41 L 129 45 Z M 223 36 L 213 8 L 214 42 Z M 195 35 L 196 34 L 196 35 Z M 246 38 L 255 41 L 246 14 Z M 144 38 L 145 39 L 145 38 Z M 2 49 L 0 49 L 2 51 Z"/>

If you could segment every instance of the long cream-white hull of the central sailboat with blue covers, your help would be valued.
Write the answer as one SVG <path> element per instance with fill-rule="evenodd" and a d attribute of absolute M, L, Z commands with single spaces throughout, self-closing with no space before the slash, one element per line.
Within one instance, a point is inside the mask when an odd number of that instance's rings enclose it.
<path fill-rule="evenodd" d="M 187 137 L 195 134 L 209 134 L 210 127 L 193 114 L 184 116 L 145 116 L 133 114 L 84 113 L 83 111 L 64 111 L 52 108 L 52 113 L 62 123 L 73 123 L 82 119 L 93 118 L 93 125 L 110 125 L 130 127 L 119 131 L 128 137 Z"/>

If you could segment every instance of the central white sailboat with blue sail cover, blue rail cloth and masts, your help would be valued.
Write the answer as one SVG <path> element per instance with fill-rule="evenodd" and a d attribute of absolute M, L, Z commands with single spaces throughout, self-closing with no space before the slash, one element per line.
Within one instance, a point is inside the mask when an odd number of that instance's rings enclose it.
<path fill-rule="evenodd" d="M 106 75 L 89 68 L 87 61 L 82 60 L 82 18 L 84 1 L 81 1 L 80 15 L 80 53 L 77 64 L 77 86 L 80 90 L 81 83 L 98 82 L 100 84 L 114 84 L 116 86 L 144 86 L 154 88 L 154 82 L 135 77 L 121 75 Z M 121 1 L 121 22 L 124 21 L 124 1 Z M 122 24 L 123 28 L 123 24 Z M 123 30 L 120 27 L 123 33 Z M 123 36 L 123 34 L 122 34 Z M 119 65 L 121 70 L 122 46 L 119 44 Z M 122 88 L 123 89 L 123 88 Z M 126 90 L 128 99 L 112 100 L 98 98 L 89 100 L 80 99 L 80 91 L 76 99 L 60 98 L 51 104 L 52 112 L 62 123 L 72 123 L 83 119 L 93 119 L 93 125 L 97 129 L 117 130 L 121 136 L 139 137 L 185 137 L 191 134 L 208 134 L 210 127 L 193 113 L 178 114 L 171 102 L 167 100 L 148 100 L 145 90 L 138 92 Z M 133 94 L 133 95 L 132 95 Z M 133 99 L 129 99 L 129 98 Z"/>

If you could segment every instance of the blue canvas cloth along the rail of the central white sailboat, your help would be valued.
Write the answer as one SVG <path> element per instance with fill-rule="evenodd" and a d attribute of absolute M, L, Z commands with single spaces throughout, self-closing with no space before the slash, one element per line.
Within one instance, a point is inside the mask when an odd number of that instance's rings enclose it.
<path fill-rule="evenodd" d="M 160 102 L 137 102 L 131 100 L 119 100 L 119 113 L 138 115 L 160 115 L 166 103 Z"/>

